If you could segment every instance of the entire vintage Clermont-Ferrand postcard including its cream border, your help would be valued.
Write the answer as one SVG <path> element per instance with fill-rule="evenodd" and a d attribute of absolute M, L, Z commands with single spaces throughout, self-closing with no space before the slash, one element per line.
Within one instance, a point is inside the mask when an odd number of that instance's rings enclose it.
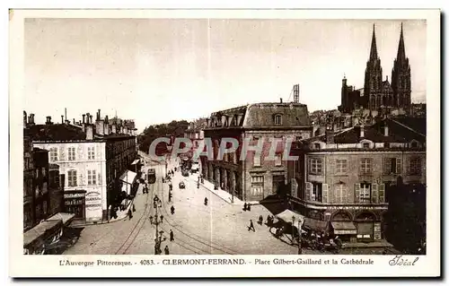
<path fill-rule="evenodd" d="M 10 48 L 11 276 L 440 276 L 440 11 L 11 10 Z"/>

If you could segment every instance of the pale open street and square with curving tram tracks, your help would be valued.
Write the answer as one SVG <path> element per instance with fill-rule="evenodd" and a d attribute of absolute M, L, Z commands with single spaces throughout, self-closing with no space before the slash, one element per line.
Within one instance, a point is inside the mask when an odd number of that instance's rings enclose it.
<path fill-rule="evenodd" d="M 168 169 L 173 169 L 173 165 Z M 148 167 L 145 167 L 146 171 Z M 295 255 L 297 247 L 286 241 L 275 238 L 269 227 L 258 224 L 258 218 L 271 214 L 262 205 L 254 205 L 251 212 L 242 210 L 241 205 L 225 202 L 207 188 L 199 186 L 198 175 L 182 177 L 175 172 L 172 178 L 173 197 L 168 203 L 168 183 L 162 182 L 165 166 L 157 165 L 156 183 L 150 186 L 149 194 L 142 194 L 139 186 L 134 204 L 136 212 L 133 218 L 109 224 L 90 225 L 84 227 L 81 237 L 74 247 L 66 250 L 65 255 L 148 255 L 154 254 L 155 226 L 150 223 L 150 215 L 155 216 L 153 197 L 158 195 L 163 201 L 158 215 L 163 214 L 163 223 L 158 230 L 163 230 L 162 249 L 168 246 L 170 254 L 222 254 L 222 255 Z M 186 185 L 179 188 L 180 181 Z M 207 197 L 208 204 L 204 204 Z M 170 213 L 171 206 L 175 213 Z M 249 231 L 250 220 L 254 222 L 255 231 Z M 170 241 L 169 232 L 173 231 L 174 241 Z M 273 230 L 272 230 L 273 231 Z M 313 254 L 308 249 L 304 254 Z M 318 254 L 318 252 L 315 252 Z"/>

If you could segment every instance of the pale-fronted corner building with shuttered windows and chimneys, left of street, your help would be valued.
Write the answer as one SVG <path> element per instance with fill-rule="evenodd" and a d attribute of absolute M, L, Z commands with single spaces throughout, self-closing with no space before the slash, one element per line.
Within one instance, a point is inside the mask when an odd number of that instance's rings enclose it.
<path fill-rule="evenodd" d="M 45 151 L 50 172 L 57 170 L 62 175 L 54 183 L 61 185 L 63 194 L 52 199 L 62 202 L 62 211 L 75 215 L 75 224 L 109 221 L 110 210 L 119 204 L 123 189 L 129 195 L 135 185 L 128 179 L 136 180 L 135 172 L 128 169 L 136 160 L 134 122 L 101 118 L 100 112 L 95 122 L 87 113 L 83 121 L 75 122 L 74 118 L 71 122 L 61 116 L 60 123 L 53 123 L 47 117 L 41 125 L 35 124 L 34 114 L 23 113 L 23 134 L 31 143 L 29 149 Z M 25 168 L 24 179 L 29 177 Z M 24 220 L 28 224 L 30 219 L 25 216 Z"/>

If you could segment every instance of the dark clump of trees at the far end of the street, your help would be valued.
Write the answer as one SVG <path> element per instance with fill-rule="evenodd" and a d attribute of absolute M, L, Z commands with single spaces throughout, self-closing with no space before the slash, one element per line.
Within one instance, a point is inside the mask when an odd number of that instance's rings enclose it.
<path fill-rule="evenodd" d="M 137 136 L 137 143 L 139 144 L 139 150 L 141 152 L 148 153 L 151 143 L 153 143 L 153 141 L 156 138 L 166 136 L 183 137 L 185 131 L 188 128 L 189 122 L 187 122 L 186 120 L 181 121 L 173 120 L 168 124 L 147 126 L 145 127 L 144 132 Z M 164 152 L 167 152 L 166 144 L 159 143 L 156 146 L 156 154 L 160 156 Z"/>

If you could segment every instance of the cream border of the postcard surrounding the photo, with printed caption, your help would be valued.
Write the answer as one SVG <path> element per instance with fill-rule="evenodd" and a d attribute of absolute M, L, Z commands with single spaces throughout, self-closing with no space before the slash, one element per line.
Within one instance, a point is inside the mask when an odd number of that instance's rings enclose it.
<path fill-rule="evenodd" d="M 23 19 L 34 18 L 252 18 L 425 19 L 427 21 L 427 256 L 415 266 L 391 266 L 393 256 L 23 256 L 22 106 Z M 13 277 L 376 277 L 438 276 L 440 259 L 440 12 L 438 10 L 16 10 L 10 15 L 10 275 Z M 19 158 L 21 158 L 19 160 Z M 152 252 L 153 249 L 150 249 Z M 341 259 L 374 264 L 341 264 Z M 413 260 L 417 256 L 409 257 Z M 238 265 L 163 265 L 163 259 L 244 259 Z M 321 264 L 273 264 L 274 259 L 321 259 Z M 140 265 L 153 259 L 154 265 Z M 255 259 L 270 260 L 255 265 Z M 324 264 L 326 260 L 339 264 Z M 59 266 L 59 261 L 121 261 L 132 266 Z M 159 262 L 159 264 L 157 264 Z"/>

